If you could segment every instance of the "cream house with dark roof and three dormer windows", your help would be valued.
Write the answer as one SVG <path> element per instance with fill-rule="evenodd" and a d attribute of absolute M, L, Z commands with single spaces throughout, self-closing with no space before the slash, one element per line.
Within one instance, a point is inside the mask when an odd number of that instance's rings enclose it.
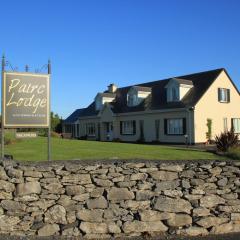
<path fill-rule="evenodd" d="M 63 124 L 73 138 L 100 141 L 203 143 L 231 127 L 240 133 L 240 96 L 225 69 L 98 93 Z"/>

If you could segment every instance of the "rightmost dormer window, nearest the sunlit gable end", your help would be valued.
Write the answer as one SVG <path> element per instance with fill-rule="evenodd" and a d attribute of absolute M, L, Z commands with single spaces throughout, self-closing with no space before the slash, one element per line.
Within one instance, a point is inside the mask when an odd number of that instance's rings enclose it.
<path fill-rule="evenodd" d="M 165 86 L 167 91 L 167 102 L 181 101 L 187 92 L 193 87 L 190 80 L 172 78 Z"/>

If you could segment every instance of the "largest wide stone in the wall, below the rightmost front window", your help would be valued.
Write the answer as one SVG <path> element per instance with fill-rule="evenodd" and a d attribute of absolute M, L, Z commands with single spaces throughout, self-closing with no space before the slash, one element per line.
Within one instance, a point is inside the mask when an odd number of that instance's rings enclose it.
<path fill-rule="evenodd" d="M 192 206 L 184 199 L 159 197 L 154 205 L 154 209 L 164 212 L 182 212 L 190 214 Z"/>

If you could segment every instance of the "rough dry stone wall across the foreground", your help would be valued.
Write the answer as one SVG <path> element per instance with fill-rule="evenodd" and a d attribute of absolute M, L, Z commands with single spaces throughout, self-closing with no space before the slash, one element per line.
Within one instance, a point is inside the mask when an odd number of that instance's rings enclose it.
<path fill-rule="evenodd" d="M 110 238 L 240 232 L 240 162 L 0 166 L 0 233 Z"/>

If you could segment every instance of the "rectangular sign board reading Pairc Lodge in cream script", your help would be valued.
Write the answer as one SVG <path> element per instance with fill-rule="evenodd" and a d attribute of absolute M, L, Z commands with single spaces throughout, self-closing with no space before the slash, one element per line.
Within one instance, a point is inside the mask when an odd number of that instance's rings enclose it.
<path fill-rule="evenodd" d="M 5 128 L 48 128 L 50 75 L 3 72 Z"/>

